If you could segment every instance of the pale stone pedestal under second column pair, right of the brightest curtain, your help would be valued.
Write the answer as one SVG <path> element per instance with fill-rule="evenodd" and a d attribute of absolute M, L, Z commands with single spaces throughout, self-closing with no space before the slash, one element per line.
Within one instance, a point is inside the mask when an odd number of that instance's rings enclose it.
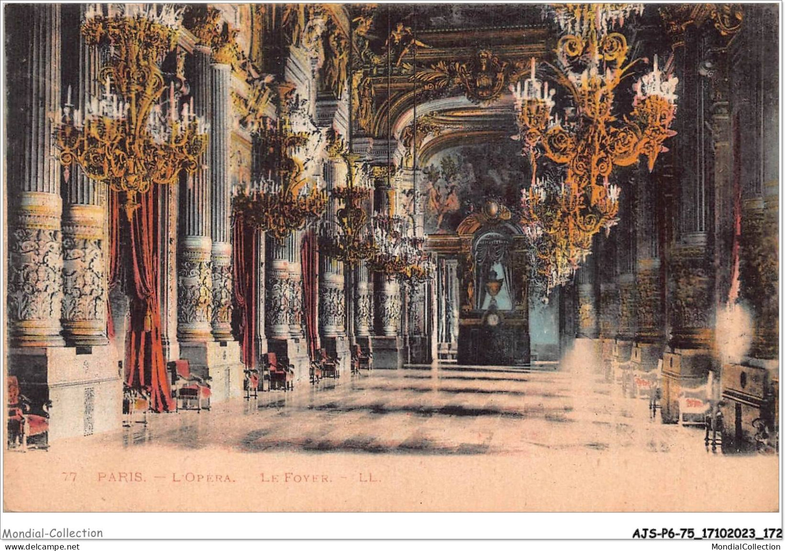
<path fill-rule="evenodd" d="M 245 367 L 240 361 L 239 342 L 181 342 L 180 357 L 188 360 L 195 375 L 212 378 L 211 404 L 243 396 Z"/>

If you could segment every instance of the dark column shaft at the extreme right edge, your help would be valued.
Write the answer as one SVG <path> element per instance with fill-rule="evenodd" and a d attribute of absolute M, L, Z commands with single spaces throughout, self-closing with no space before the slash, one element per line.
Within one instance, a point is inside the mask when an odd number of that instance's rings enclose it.
<path fill-rule="evenodd" d="M 743 210 L 739 250 L 739 297 L 751 307 L 753 340 L 749 356 L 776 359 L 780 345 L 779 119 L 776 93 L 777 24 L 773 6 L 745 11 L 747 29 L 732 44 L 734 173 Z M 752 161 L 752 162 L 750 162 Z"/>

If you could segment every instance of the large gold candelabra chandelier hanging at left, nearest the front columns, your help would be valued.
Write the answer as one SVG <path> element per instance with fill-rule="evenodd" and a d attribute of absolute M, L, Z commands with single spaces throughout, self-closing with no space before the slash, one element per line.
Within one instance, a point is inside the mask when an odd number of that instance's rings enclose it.
<path fill-rule="evenodd" d="M 107 43 L 114 55 L 100 71 L 103 93 L 86 95 L 75 109 L 68 100 L 56 130 L 60 162 L 82 167 L 87 177 L 125 193 L 129 217 L 137 194 L 153 184 L 173 184 L 181 170 L 195 171 L 206 148 L 207 126 L 192 104 L 180 108 L 179 93 L 165 89 L 160 64 L 177 44 L 181 9 L 138 4 L 111 5 L 104 15 L 90 5 L 82 23 L 89 45 Z"/>

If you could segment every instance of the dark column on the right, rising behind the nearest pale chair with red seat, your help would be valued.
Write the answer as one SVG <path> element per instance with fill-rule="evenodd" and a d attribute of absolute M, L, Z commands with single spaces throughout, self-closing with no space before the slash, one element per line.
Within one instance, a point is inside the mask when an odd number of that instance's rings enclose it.
<path fill-rule="evenodd" d="M 712 71 L 706 59 L 707 38 L 698 33 L 685 42 L 685 112 L 695 113 L 682 122 L 674 137 L 683 173 L 679 179 L 678 224 L 674 246 L 669 250 L 670 292 L 668 325 L 670 349 L 663 353 L 662 419 L 676 422 L 678 400 L 683 389 L 696 388 L 707 381 L 714 363 L 715 275 L 714 239 L 715 184 L 725 185 L 728 151 L 727 103 L 714 103 L 712 113 Z M 717 61 L 714 58 L 712 61 Z M 677 65 L 678 67 L 678 65 Z M 681 80 L 681 76 L 680 76 Z M 720 83 L 720 82 L 717 82 Z M 681 108 L 681 106 L 680 106 Z M 723 112 L 724 111 L 724 112 Z M 710 126 L 715 126 L 710 130 Z M 712 151 L 713 144 L 720 155 Z M 714 167 L 714 168 L 713 168 Z"/>

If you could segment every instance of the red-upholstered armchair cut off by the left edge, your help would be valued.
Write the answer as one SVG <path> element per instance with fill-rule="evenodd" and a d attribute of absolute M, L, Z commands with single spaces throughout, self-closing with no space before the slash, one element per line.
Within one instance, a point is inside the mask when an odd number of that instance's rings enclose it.
<path fill-rule="evenodd" d="M 8 447 L 19 447 L 21 451 L 49 448 L 49 407 L 46 401 L 40 407 L 32 407 L 31 401 L 19 390 L 19 380 L 8 378 Z M 35 413 L 32 413 L 35 411 Z M 29 440 L 35 438 L 35 444 Z"/>

